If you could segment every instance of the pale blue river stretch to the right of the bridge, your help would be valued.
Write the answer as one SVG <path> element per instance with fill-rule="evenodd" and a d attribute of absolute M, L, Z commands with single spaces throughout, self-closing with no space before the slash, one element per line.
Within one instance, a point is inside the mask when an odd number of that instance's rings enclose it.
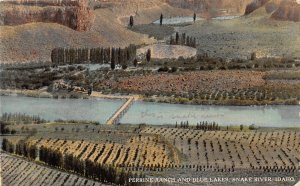
<path fill-rule="evenodd" d="M 300 127 L 300 106 L 207 106 L 136 102 L 122 123 L 195 124 L 215 121 L 221 125 Z"/>

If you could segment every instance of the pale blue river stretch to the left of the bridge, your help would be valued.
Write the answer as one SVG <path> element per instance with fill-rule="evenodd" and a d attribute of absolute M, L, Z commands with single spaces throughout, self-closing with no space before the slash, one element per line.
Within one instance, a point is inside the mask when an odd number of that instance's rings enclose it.
<path fill-rule="evenodd" d="M 124 103 L 109 99 L 49 99 L 0 96 L 1 114 L 25 113 L 46 120 L 90 120 L 105 123 Z"/>

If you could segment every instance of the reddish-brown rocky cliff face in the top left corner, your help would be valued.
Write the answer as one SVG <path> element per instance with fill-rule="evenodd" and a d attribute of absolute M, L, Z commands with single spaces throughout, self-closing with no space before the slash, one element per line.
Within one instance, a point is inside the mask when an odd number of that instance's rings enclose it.
<path fill-rule="evenodd" d="M 0 25 L 49 22 L 62 24 L 77 31 L 86 31 L 94 20 L 87 3 L 81 1 L 20 0 L 1 4 Z"/>

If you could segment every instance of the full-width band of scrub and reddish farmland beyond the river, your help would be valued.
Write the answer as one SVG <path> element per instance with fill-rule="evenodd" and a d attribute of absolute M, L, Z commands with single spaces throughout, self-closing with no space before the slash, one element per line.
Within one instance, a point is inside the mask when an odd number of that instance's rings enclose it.
<path fill-rule="evenodd" d="M 145 64 L 149 70 L 130 71 L 107 68 L 90 71 L 84 65 L 51 67 L 48 64 L 33 69 L 21 65 L 0 72 L 0 81 L 2 89 L 24 89 L 26 95 L 33 97 L 87 98 L 92 80 L 94 91 L 139 94 L 146 101 L 215 105 L 297 105 L 299 102 L 298 68 L 209 70 L 204 64 L 187 62 L 177 66 L 178 62 L 164 65 L 153 61 Z M 218 65 L 208 63 L 216 68 Z M 200 69 L 192 70 L 196 67 Z"/>

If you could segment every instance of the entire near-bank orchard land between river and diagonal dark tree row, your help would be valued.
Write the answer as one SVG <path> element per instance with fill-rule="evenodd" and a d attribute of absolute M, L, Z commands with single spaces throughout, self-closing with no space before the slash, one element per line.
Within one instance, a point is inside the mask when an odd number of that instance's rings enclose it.
<path fill-rule="evenodd" d="M 267 128 L 249 131 L 245 126 L 244 131 L 226 127 L 207 131 L 194 127 L 130 125 L 85 125 L 80 129 L 80 125 L 61 124 L 65 129 L 58 135 L 55 131 L 60 130 L 59 125 L 40 125 L 35 129 L 38 132 L 27 139 L 29 146 L 43 146 L 81 160 L 117 167 L 192 167 L 195 171 L 209 168 L 215 171 L 292 172 L 299 169 L 300 133 L 297 130 Z M 13 128 L 17 133 L 21 132 L 20 127 Z M 123 132 L 126 128 L 127 132 Z M 18 140 L 12 142 L 17 144 Z"/>

